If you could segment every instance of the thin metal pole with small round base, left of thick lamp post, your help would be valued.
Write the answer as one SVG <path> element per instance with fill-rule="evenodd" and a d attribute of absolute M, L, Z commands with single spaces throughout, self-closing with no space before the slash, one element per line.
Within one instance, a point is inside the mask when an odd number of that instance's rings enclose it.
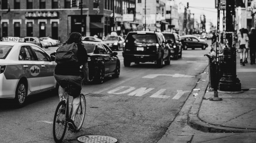
<path fill-rule="evenodd" d="M 221 101 L 222 98 L 218 97 L 218 84 L 219 84 L 219 47 L 220 47 L 220 0 L 218 0 L 218 20 L 217 20 L 217 41 L 216 41 L 216 78 L 214 79 L 216 82 L 214 86 L 214 98 L 211 98 L 210 101 Z M 212 73 L 214 74 L 214 73 Z"/>

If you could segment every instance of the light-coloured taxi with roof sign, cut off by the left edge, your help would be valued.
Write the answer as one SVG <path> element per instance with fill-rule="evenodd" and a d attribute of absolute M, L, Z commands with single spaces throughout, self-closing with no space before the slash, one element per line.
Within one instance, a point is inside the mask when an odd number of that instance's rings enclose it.
<path fill-rule="evenodd" d="M 3 37 L 0 42 L 0 98 L 24 106 L 27 96 L 52 90 L 56 63 L 51 56 L 24 38 Z"/>

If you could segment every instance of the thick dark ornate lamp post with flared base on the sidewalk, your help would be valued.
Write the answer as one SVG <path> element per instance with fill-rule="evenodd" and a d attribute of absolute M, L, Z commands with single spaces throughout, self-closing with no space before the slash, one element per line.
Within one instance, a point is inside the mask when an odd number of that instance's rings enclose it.
<path fill-rule="evenodd" d="M 223 76 L 220 79 L 219 90 L 226 92 L 241 92 L 241 83 L 237 78 L 236 44 L 234 43 L 234 9 L 235 2 L 226 0 L 226 46 L 223 49 Z"/>

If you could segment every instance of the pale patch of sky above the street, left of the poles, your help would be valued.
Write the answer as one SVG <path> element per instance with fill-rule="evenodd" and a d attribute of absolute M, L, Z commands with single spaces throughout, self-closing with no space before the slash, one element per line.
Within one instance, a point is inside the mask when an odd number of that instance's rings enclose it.
<path fill-rule="evenodd" d="M 206 22 L 211 22 L 217 25 L 217 9 L 215 9 L 215 0 L 178 0 L 187 6 L 191 13 L 195 13 L 195 18 L 200 19 L 200 15 L 204 14 Z"/>

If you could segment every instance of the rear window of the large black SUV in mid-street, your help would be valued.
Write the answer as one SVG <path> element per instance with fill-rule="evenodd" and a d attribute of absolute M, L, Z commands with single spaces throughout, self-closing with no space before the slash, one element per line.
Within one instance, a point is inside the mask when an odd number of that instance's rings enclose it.
<path fill-rule="evenodd" d="M 133 42 L 136 44 L 140 43 L 157 43 L 156 35 L 155 34 L 137 34 L 131 33 L 127 35 L 125 42 Z"/>

